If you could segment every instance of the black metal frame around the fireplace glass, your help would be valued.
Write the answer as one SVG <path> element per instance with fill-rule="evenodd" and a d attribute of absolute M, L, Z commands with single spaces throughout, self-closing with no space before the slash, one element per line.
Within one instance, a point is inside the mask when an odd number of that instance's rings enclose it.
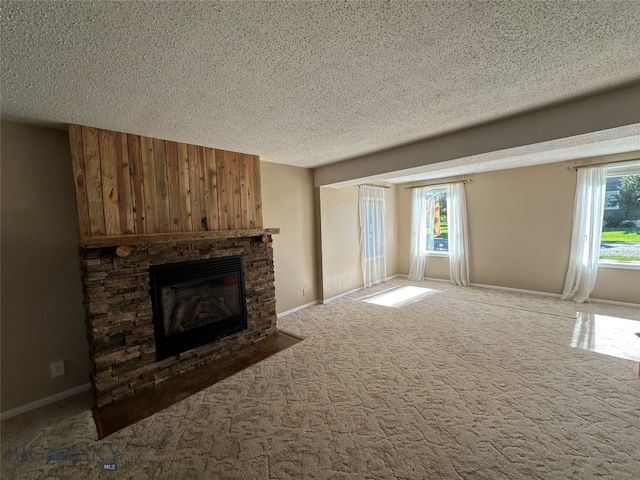
<path fill-rule="evenodd" d="M 195 280 L 213 280 L 229 273 L 239 275 L 240 313 L 223 320 L 167 336 L 164 331 L 163 287 Z M 247 303 L 242 255 L 149 266 L 156 361 L 241 332 L 247 328 Z"/>

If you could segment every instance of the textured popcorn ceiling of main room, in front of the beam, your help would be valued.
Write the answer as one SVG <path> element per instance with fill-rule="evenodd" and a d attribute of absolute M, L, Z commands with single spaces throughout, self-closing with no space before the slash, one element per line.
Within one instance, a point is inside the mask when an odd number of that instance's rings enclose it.
<path fill-rule="evenodd" d="M 2 2 L 4 118 L 315 167 L 640 78 L 640 2 Z"/>

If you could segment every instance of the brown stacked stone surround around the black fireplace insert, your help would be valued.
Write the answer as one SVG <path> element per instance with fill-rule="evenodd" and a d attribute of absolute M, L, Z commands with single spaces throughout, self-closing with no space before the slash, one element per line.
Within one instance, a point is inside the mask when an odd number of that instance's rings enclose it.
<path fill-rule="evenodd" d="M 273 249 L 261 237 L 81 249 L 85 321 L 96 405 L 102 407 L 276 333 Z M 242 255 L 247 325 L 242 332 L 156 361 L 149 265 Z"/>

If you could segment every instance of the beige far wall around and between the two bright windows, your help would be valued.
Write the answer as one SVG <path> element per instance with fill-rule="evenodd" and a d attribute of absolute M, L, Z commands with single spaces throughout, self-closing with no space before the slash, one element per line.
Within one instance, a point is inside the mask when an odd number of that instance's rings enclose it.
<path fill-rule="evenodd" d="M 602 160 L 602 159 L 601 159 Z M 562 293 L 569 264 L 576 173 L 564 162 L 474 174 L 465 186 L 472 283 Z M 409 271 L 411 194 L 398 192 L 398 264 Z M 449 278 L 448 259 L 425 275 Z M 592 298 L 640 303 L 640 270 L 603 269 Z"/>

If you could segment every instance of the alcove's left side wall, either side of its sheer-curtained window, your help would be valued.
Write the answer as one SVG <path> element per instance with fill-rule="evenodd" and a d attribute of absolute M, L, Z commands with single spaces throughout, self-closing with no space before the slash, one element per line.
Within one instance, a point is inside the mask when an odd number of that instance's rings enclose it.
<path fill-rule="evenodd" d="M 397 187 L 385 190 L 387 276 L 398 273 Z M 363 286 L 358 187 L 320 188 L 323 300 Z"/>

